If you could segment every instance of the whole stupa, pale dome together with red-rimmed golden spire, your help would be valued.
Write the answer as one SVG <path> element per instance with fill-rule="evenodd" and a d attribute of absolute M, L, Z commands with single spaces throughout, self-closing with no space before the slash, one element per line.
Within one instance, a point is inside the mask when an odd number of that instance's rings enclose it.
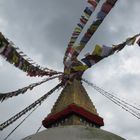
<path fill-rule="evenodd" d="M 76 79 L 66 85 L 42 124 L 46 130 L 23 140 L 124 140 L 100 129 L 103 119 Z"/>

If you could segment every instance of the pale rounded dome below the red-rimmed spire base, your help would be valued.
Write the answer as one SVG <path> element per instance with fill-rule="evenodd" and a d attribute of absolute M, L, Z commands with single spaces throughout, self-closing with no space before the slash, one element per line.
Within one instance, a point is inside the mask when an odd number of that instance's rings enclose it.
<path fill-rule="evenodd" d="M 125 140 L 102 129 L 80 125 L 50 128 L 23 140 Z"/>

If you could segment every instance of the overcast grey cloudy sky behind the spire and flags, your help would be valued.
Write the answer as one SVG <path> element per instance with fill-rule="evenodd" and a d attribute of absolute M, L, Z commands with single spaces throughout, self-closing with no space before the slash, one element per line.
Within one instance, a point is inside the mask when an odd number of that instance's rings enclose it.
<path fill-rule="evenodd" d="M 65 49 L 85 6 L 86 0 L 0 0 L 0 31 L 41 66 L 62 71 Z M 139 7 L 139 0 L 118 0 L 82 55 L 90 52 L 97 43 L 117 44 L 139 33 Z M 94 16 L 89 24 L 93 18 Z M 129 103 L 140 104 L 139 60 L 140 48 L 137 45 L 127 46 L 120 53 L 94 65 L 83 77 L 107 91 L 126 98 Z M 40 78 L 27 77 L 26 73 L 0 57 L 0 92 L 16 90 L 39 80 Z M 57 83 L 58 81 L 54 80 L 27 92 L 26 95 L 1 103 L 0 123 L 30 105 Z M 140 121 L 137 118 L 92 88 L 85 84 L 84 86 L 98 113 L 104 118 L 105 126 L 102 129 L 116 133 L 127 140 L 140 139 Z M 9 140 L 19 140 L 34 134 L 59 94 L 60 91 L 50 96 Z M 0 139 L 4 139 L 24 117 L 0 132 Z"/>

